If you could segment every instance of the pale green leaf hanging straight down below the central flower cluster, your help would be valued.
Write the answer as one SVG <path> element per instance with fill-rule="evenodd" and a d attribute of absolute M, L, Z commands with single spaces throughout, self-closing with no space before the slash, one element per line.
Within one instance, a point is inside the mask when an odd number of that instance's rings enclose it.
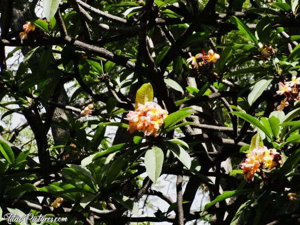
<path fill-rule="evenodd" d="M 147 150 L 144 157 L 144 164 L 147 175 L 153 183 L 155 183 L 161 173 L 163 151 L 157 146 L 153 146 L 151 149 Z"/>

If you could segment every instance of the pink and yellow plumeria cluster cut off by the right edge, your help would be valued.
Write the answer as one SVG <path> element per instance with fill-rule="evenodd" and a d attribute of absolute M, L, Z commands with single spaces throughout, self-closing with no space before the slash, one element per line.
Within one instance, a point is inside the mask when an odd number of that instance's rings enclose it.
<path fill-rule="evenodd" d="M 281 111 L 289 105 L 290 101 L 300 100 L 300 77 L 292 76 L 290 81 L 279 82 L 277 94 L 284 95 L 285 98 L 277 106 L 277 110 Z"/>

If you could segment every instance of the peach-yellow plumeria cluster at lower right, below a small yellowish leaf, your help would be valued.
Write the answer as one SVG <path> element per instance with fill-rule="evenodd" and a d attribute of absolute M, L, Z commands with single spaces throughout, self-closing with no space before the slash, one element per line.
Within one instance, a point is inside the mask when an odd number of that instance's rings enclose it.
<path fill-rule="evenodd" d="M 262 169 L 271 170 L 278 168 L 282 164 L 281 154 L 276 149 L 267 147 L 257 147 L 246 154 L 246 159 L 242 162 L 241 169 L 247 182 L 254 179 L 254 173 L 261 175 Z"/>

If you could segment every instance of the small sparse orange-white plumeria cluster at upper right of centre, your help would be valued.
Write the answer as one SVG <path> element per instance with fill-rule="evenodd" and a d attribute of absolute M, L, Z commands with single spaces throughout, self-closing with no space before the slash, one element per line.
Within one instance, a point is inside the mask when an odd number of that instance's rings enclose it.
<path fill-rule="evenodd" d="M 187 63 L 190 63 L 192 68 L 198 69 L 199 66 L 202 66 L 203 64 L 207 62 L 216 62 L 217 59 L 220 58 L 220 55 L 217 53 L 214 53 L 212 49 L 208 51 L 208 54 L 205 53 L 203 50 L 203 53 L 198 53 L 195 56 L 191 56 L 186 59 Z"/>

